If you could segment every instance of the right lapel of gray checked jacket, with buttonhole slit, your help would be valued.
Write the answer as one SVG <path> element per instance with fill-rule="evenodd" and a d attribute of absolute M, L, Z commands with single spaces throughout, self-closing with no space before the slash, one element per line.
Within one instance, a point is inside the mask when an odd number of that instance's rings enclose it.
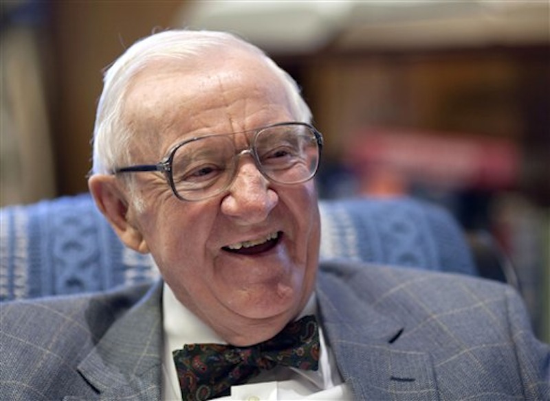
<path fill-rule="evenodd" d="M 345 271 L 320 274 L 318 302 L 338 368 L 355 398 L 438 400 L 430 355 L 401 347 L 399 337 L 407 328 L 365 301 L 364 286 L 350 284 L 357 272 L 346 278 Z"/>

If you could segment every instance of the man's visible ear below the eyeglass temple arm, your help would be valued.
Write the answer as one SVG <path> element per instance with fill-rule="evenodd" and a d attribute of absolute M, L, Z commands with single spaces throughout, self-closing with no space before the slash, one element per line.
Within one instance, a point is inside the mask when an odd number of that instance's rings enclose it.
<path fill-rule="evenodd" d="M 107 218 L 120 240 L 140 253 L 149 249 L 139 227 L 129 219 L 129 200 L 120 182 L 107 174 L 94 174 L 88 179 L 88 188 L 98 209 Z"/>

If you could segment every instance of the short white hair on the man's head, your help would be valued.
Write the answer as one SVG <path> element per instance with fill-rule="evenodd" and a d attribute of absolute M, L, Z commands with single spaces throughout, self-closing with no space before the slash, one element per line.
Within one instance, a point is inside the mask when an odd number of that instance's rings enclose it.
<path fill-rule="evenodd" d="M 258 47 L 232 34 L 212 31 L 168 30 L 137 41 L 115 60 L 104 75 L 94 127 L 94 174 L 110 174 L 120 165 L 131 163 L 131 128 L 125 126 L 122 110 L 126 91 L 135 75 L 158 60 L 196 60 L 212 49 L 240 47 L 257 54 L 274 71 L 291 102 L 295 118 L 311 122 L 311 111 L 300 95 L 296 82 Z"/>

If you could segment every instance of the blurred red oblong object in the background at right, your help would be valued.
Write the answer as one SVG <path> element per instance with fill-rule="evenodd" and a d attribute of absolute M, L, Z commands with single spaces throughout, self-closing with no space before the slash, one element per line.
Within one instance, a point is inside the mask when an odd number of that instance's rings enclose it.
<path fill-rule="evenodd" d="M 447 188 L 502 190 L 513 187 L 519 174 L 518 149 L 507 139 L 369 128 L 353 136 L 346 152 L 361 177 L 388 171 L 409 183 Z"/>

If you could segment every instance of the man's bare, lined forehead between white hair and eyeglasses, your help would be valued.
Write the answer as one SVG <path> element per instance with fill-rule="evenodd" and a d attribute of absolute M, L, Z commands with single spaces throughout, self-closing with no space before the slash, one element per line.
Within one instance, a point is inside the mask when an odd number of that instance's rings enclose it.
<path fill-rule="evenodd" d="M 255 54 L 237 50 L 149 63 L 131 80 L 123 115 L 133 132 L 164 137 L 292 119 L 289 105 L 281 78 Z"/>

